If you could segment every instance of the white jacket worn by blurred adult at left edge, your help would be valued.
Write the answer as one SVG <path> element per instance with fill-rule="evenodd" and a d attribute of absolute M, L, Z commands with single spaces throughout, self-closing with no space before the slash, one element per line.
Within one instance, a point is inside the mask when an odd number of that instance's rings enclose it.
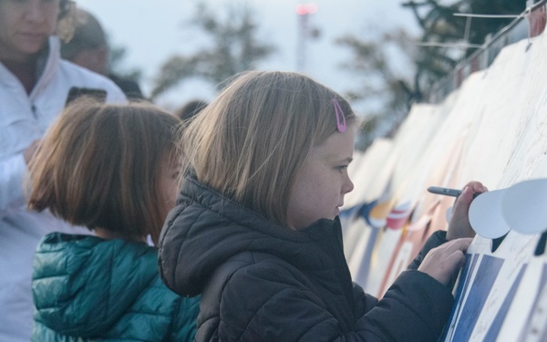
<path fill-rule="evenodd" d="M 46 233 L 82 233 L 49 212 L 26 210 L 23 152 L 65 107 L 68 90 L 102 88 L 108 102 L 125 102 L 108 78 L 60 58 L 60 42 L 49 39 L 45 64 L 30 95 L 0 63 L 0 341 L 29 341 L 34 305 L 31 275 L 36 244 Z"/>

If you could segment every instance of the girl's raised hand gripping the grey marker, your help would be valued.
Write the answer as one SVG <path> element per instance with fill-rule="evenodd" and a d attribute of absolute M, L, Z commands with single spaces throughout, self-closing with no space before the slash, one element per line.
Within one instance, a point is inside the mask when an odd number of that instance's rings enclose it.
<path fill-rule="evenodd" d="M 473 201 L 473 193 L 482 192 L 488 192 L 488 189 L 480 181 L 470 181 L 463 188 L 463 192 L 461 192 L 454 202 L 452 214 L 450 215 L 447 240 L 475 236 L 475 231 L 473 231 L 470 224 L 470 205 Z"/>

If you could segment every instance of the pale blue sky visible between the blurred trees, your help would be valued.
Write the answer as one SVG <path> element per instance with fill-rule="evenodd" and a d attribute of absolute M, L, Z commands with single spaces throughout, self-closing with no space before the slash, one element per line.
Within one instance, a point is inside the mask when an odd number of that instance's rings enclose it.
<path fill-rule="evenodd" d="M 411 11 L 403 0 L 313 0 L 315 14 L 309 26 L 320 35 L 305 43 L 304 67 L 297 70 L 299 0 L 205 0 L 215 11 L 225 11 L 234 3 L 249 5 L 257 16 L 257 36 L 277 47 L 276 52 L 257 67 L 268 70 L 303 71 L 338 92 L 356 88 L 356 78 L 339 66 L 351 58 L 349 50 L 334 44 L 336 37 L 352 34 L 366 38 L 396 27 L 418 33 Z M 143 72 L 141 88 L 150 94 L 152 81 L 163 62 L 174 55 L 188 56 L 201 46 L 203 36 L 188 25 L 197 0 L 76 0 L 77 6 L 97 16 L 111 44 L 126 48 L 123 66 Z M 407 70 L 408 71 L 408 70 Z M 405 72 L 405 67 L 401 67 Z M 157 99 L 175 109 L 193 98 L 211 100 L 212 85 L 191 80 Z"/>

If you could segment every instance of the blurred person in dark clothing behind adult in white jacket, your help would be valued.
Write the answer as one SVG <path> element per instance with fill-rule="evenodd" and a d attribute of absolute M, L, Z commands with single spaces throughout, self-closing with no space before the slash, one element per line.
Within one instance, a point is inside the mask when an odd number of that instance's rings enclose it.
<path fill-rule="evenodd" d="M 77 9 L 74 36 L 61 47 L 61 57 L 112 79 L 128 98 L 144 98 L 139 84 L 109 70 L 107 36 L 95 16 Z"/>

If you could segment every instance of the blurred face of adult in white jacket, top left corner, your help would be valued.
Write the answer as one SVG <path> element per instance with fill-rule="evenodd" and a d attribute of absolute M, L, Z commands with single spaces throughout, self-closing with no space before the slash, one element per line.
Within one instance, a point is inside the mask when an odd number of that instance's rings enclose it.
<path fill-rule="evenodd" d="M 26 61 L 55 33 L 59 0 L 0 0 L 0 58 Z"/>

